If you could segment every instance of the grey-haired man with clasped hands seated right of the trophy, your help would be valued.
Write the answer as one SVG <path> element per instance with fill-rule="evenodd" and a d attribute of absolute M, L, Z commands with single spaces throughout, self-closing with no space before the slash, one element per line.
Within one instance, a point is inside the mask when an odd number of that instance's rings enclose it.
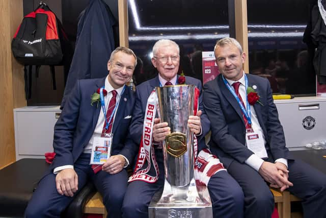
<path fill-rule="evenodd" d="M 235 39 L 219 40 L 214 53 L 221 74 L 203 94 L 209 144 L 243 190 L 244 217 L 270 218 L 268 185 L 301 198 L 304 217 L 325 217 L 326 175 L 289 155 L 269 82 L 244 74 L 246 54 Z"/>

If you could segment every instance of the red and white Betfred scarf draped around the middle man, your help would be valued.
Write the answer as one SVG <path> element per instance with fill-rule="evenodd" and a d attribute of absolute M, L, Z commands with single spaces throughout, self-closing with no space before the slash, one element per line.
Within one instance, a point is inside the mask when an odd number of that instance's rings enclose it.
<path fill-rule="evenodd" d="M 199 99 L 200 91 L 198 88 L 195 88 L 195 96 L 194 96 L 194 115 L 196 116 L 198 108 L 199 108 Z M 157 95 L 155 90 L 151 92 L 149 98 L 147 100 L 145 117 L 144 117 L 144 126 L 143 126 L 143 134 L 142 140 L 139 148 L 138 159 L 134 169 L 133 174 L 129 177 L 128 182 L 132 182 L 135 180 L 145 181 L 147 183 L 155 183 L 158 180 L 158 165 L 155 158 L 155 152 L 153 147 L 153 125 L 154 118 L 157 111 Z M 207 186 L 208 181 L 211 176 L 215 173 L 226 170 L 223 167 L 223 164 L 220 160 L 212 155 L 208 149 L 203 149 L 201 152 L 198 152 L 197 145 L 197 137 L 194 134 L 194 169 L 195 169 L 195 179 L 198 184 L 205 184 Z M 143 169 L 144 164 L 147 161 L 147 167 Z M 151 176 L 148 174 L 150 171 L 151 165 L 153 165 L 155 169 L 155 176 Z"/>

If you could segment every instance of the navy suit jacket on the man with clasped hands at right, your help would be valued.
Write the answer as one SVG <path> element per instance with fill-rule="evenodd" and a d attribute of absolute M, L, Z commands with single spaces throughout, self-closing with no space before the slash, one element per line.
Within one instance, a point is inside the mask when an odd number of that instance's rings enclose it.
<path fill-rule="evenodd" d="M 280 124 L 268 80 L 250 74 L 247 74 L 247 77 L 250 87 L 257 86 L 255 91 L 262 103 L 262 105 L 256 103 L 254 108 L 265 136 L 268 157 L 273 160 L 289 159 L 283 127 Z M 246 128 L 240 106 L 224 84 L 221 74 L 204 85 L 203 95 L 204 107 L 211 122 L 209 146 L 212 153 L 217 155 L 226 167 L 233 160 L 244 163 L 253 152 L 245 146 Z"/>

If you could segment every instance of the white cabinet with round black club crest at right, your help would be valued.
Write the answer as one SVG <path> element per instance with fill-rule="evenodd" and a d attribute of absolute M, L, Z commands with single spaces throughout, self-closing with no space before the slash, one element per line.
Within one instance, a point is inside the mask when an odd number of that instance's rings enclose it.
<path fill-rule="evenodd" d="M 307 143 L 326 140 L 326 98 L 303 97 L 274 102 L 286 147 L 304 148 Z"/>

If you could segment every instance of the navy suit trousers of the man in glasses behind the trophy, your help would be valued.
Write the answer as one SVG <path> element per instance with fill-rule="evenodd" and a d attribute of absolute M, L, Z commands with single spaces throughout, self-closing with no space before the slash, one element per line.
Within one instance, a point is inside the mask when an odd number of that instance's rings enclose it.
<path fill-rule="evenodd" d="M 164 163 L 161 149 L 155 150 L 155 156 L 160 172 L 158 180 L 156 183 L 137 180 L 128 185 L 122 204 L 124 218 L 148 218 L 148 206 L 154 193 L 164 187 Z M 152 168 L 150 173 L 153 175 Z M 208 190 L 214 217 L 243 217 L 243 192 L 226 171 L 220 171 L 211 177 Z"/>

